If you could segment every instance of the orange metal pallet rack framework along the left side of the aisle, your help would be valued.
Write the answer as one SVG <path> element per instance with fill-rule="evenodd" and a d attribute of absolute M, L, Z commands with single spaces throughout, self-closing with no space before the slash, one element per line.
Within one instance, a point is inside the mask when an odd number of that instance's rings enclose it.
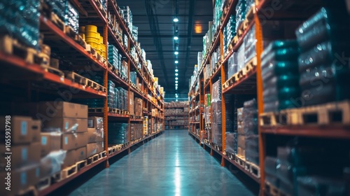
<path fill-rule="evenodd" d="M 40 64 L 27 60 L 30 55 L 25 51 L 25 57 L 21 57 L 15 52 L 6 51 L 3 48 L 0 50 L 0 62 L 3 65 L 3 69 L 6 70 L 6 74 L 1 74 L 2 89 L 6 90 L 8 94 L 18 94 L 18 87 L 24 92 L 27 92 L 27 96 L 20 98 L 19 102 L 36 102 L 43 99 L 64 99 L 69 97 L 59 97 L 57 90 L 63 90 L 64 92 L 71 92 L 71 98 L 67 99 L 70 102 L 71 99 L 104 99 L 104 107 L 102 109 L 92 109 L 89 110 L 89 116 L 102 116 L 104 117 L 104 152 L 103 155 L 97 156 L 96 159 L 90 160 L 90 164 L 83 165 L 82 168 L 78 167 L 78 171 L 75 174 L 71 174 L 65 179 L 58 181 L 56 183 L 50 184 L 41 190 L 38 190 L 38 195 L 48 195 L 60 188 L 69 181 L 75 179 L 85 172 L 88 172 L 93 167 L 104 163 L 105 167 L 109 167 L 109 159 L 124 151 L 130 153 L 130 149 L 137 144 L 144 144 L 145 142 L 158 137 L 164 132 L 165 127 L 165 106 L 164 106 L 164 94 L 160 92 L 158 86 L 155 85 L 155 80 L 151 75 L 150 71 L 146 68 L 146 62 L 143 61 L 141 57 L 141 49 L 139 45 L 134 41 L 125 24 L 118 6 L 116 6 L 116 1 L 108 0 L 106 1 L 107 11 L 113 13 L 117 16 L 118 23 L 123 29 L 123 32 L 127 34 L 128 47 L 123 47 L 123 43 L 120 43 L 118 38 L 113 34 L 113 31 L 109 25 L 107 18 L 107 13 L 102 10 L 102 6 L 99 1 L 88 0 L 70 0 L 73 6 L 77 8 L 80 15 L 80 25 L 96 25 L 99 28 L 99 32 L 104 36 L 104 44 L 106 45 L 106 51 L 108 51 L 107 41 L 109 44 L 116 45 L 118 50 L 127 58 L 127 78 L 130 78 L 130 71 L 137 71 L 137 77 L 141 81 L 141 89 L 132 85 L 129 80 L 125 80 L 122 76 L 118 75 L 113 67 L 107 61 L 101 61 L 92 54 L 92 49 L 87 48 L 86 44 L 78 43 L 75 38 L 69 35 L 65 31 L 66 27 L 62 27 L 62 23 L 57 24 L 57 22 L 52 21 L 50 15 L 52 13 L 40 15 L 40 32 L 44 35 L 44 43 L 56 48 L 62 52 L 60 55 L 64 55 L 64 58 L 71 60 L 75 63 L 72 70 L 94 70 L 100 76 L 104 78 L 104 85 L 99 89 L 90 87 L 90 85 L 84 85 L 76 83 L 73 80 L 64 78 L 61 73 L 62 71 L 53 70 L 50 67 L 42 67 Z M 77 35 L 76 35 L 77 36 Z M 134 45 L 137 48 L 137 58 L 141 62 L 141 68 L 137 67 L 133 57 L 130 54 L 130 46 Z M 85 48 L 86 47 L 86 48 Z M 108 55 L 108 52 L 106 52 Z M 108 57 L 107 57 L 108 58 Z M 13 78 L 16 78 L 13 80 Z M 141 139 L 137 141 L 130 141 L 123 146 L 109 146 L 108 144 L 108 122 L 118 121 L 125 123 L 142 123 L 143 118 L 132 118 L 128 112 L 118 112 L 116 110 L 111 110 L 108 108 L 107 100 L 107 80 L 113 80 L 116 85 L 125 88 L 128 94 L 134 92 L 134 97 L 139 97 L 143 100 L 143 115 L 148 116 L 149 124 L 162 124 L 162 130 L 155 129 L 155 127 L 150 126 L 147 135 L 143 134 Z M 45 87 L 44 84 L 50 84 Z M 50 89 L 50 87 L 55 87 L 55 89 Z M 5 92 L 5 91 L 4 91 Z M 10 97 L 10 96 L 9 96 Z M 46 98 L 45 98 L 46 97 Z M 6 100 L 5 101 L 10 101 Z M 129 111 L 130 111 L 130 104 Z M 158 110 L 158 115 L 155 116 L 151 111 Z M 130 129 L 129 129 L 130 132 Z M 88 161 L 87 161 L 88 162 Z M 80 164 L 81 165 L 81 164 Z M 36 191 L 31 188 L 30 191 Z"/>

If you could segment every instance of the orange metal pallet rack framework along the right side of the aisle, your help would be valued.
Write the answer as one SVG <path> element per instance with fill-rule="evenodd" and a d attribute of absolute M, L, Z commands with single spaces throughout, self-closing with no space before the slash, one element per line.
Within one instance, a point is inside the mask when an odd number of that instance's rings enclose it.
<path fill-rule="evenodd" d="M 216 153 L 221 157 L 221 166 L 225 166 L 225 162 L 230 162 L 232 165 L 235 165 L 241 172 L 244 172 L 247 176 L 251 177 L 253 181 L 256 181 L 260 184 L 260 195 L 283 195 L 280 193 L 280 190 L 275 190 L 275 193 L 272 194 L 271 189 L 273 187 L 269 186 L 268 183 L 265 182 L 265 165 L 264 160 L 267 156 L 267 137 L 274 137 L 275 139 L 283 139 L 285 137 L 289 137 L 292 139 L 293 137 L 307 137 L 312 139 L 341 139 L 349 141 L 350 132 L 349 132 L 349 102 L 345 103 L 330 103 L 330 107 L 337 108 L 335 109 L 337 112 L 342 112 L 342 120 L 337 120 L 337 122 L 331 122 L 332 120 L 325 120 L 328 123 L 319 123 L 319 122 L 311 122 L 300 123 L 302 120 L 297 120 L 298 123 L 294 123 L 294 125 L 286 125 L 286 123 L 275 122 L 274 116 L 270 116 L 268 113 L 263 112 L 264 102 L 262 99 L 262 76 L 261 76 L 261 60 L 260 55 L 263 51 L 263 41 L 265 40 L 265 36 L 263 35 L 264 28 L 268 28 L 266 24 L 269 20 L 297 20 L 300 21 L 300 24 L 304 20 L 307 20 L 311 15 L 313 15 L 321 6 L 323 5 L 323 1 L 290 1 L 289 3 L 283 4 L 282 2 L 276 4 L 276 1 L 272 0 L 260 0 L 255 1 L 255 6 L 251 9 L 251 11 L 247 14 L 246 24 L 244 24 L 243 31 L 241 31 L 235 38 L 230 42 L 230 47 L 228 47 L 228 51 L 223 51 L 223 29 L 227 25 L 228 20 L 231 14 L 235 13 L 235 6 L 237 5 L 237 0 L 228 0 L 225 2 L 223 6 L 223 17 L 221 18 L 221 25 L 219 25 L 218 29 L 216 29 L 216 34 L 214 36 L 214 40 L 211 43 L 211 47 L 207 50 L 207 55 L 202 60 L 202 65 L 200 66 L 197 78 L 195 78 L 195 83 L 190 87 L 189 97 L 190 97 L 190 106 L 191 111 L 189 113 L 189 118 L 193 118 L 194 116 L 199 115 L 200 120 L 196 122 L 192 122 L 190 124 L 190 128 L 188 130 L 188 134 L 197 141 L 200 146 L 210 150 L 211 155 Z M 277 7 L 276 7 L 277 6 Z M 302 8 L 301 10 L 293 10 L 293 8 Z M 271 15 L 267 15 L 267 10 L 273 10 Z M 246 36 L 247 32 L 251 27 L 255 25 L 255 38 L 257 40 L 255 51 L 255 67 L 248 70 L 244 76 L 236 76 L 238 78 L 227 78 L 227 62 L 229 57 L 233 52 L 236 52 L 239 46 L 244 41 L 244 36 Z M 293 29 L 294 30 L 294 29 Z M 281 39 L 281 37 L 272 38 L 272 40 Z M 282 37 L 283 39 L 283 37 Z M 217 69 L 212 73 L 209 80 L 204 80 L 204 67 L 211 62 L 211 54 L 214 52 L 216 48 L 220 48 L 221 51 L 221 61 L 216 65 Z M 203 103 L 203 96 L 206 93 L 212 92 L 213 83 L 218 80 L 218 76 L 221 76 L 222 80 L 222 149 L 218 148 L 215 144 L 212 143 L 209 139 L 203 139 L 202 132 L 200 130 L 204 130 L 206 127 L 210 127 L 211 125 L 205 120 L 203 120 L 202 115 L 203 111 L 198 106 L 197 103 Z M 195 90 L 195 85 L 197 82 L 198 90 Z M 258 126 L 258 135 L 259 135 L 259 160 L 260 165 L 255 168 L 255 171 L 252 172 L 251 165 L 247 162 L 242 163 L 237 156 L 231 155 L 230 153 L 225 152 L 225 94 L 256 94 L 257 102 L 258 102 L 258 114 L 259 118 L 259 126 Z M 345 104 L 341 108 L 341 104 Z M 199 107 L 199 108 L 198 108 Z M 314 113 L 317 115 L 317 110 L 325 108 L 325 104 L 316 106 Z M 300 110 L 307 110 L 307 108 L 302 108 Z M 302 112 L 301 112 L 302 113 Z M 314 114 L 312 113 L 312 114 Z M 278 113 L 281 118 L 281 113 Z M 282 114 L 283 115 L 283 114 Z M 295 113 L 297 118 L 301 118 L 300 113 Z M 265 124 L 264 118 L 269 117 L 269 123 Z M 321 116 L 320 116 L 321 118 Z M 295 121 L 295 119 L 293 119 Z M 318 120 L 320 121 L 320 120 Z M 274 123 L 271 123 L 274 122 Z M 342 124 L 344 123 L 344 124 Z M 293 123 L 292 123 L 293 124 Z M 199 132 L 196 132 L 196 129 Z M 270 144 L 271 145 L 271 144 Z M 276 148 L 276 146 L 274 146 Z M 256 171 L 259 170 L 259 171 Z"/>

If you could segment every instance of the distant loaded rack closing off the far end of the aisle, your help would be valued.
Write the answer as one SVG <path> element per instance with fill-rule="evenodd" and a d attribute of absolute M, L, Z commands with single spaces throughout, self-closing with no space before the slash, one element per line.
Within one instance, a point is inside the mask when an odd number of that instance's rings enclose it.
<path fill-rule="evenodd" d="M 167 109 L 182 109 L 183 113 L 179 113 L 179 114 L 167 113 Z M 188 106 L 167 106 L 167 105 L 165 105 L 165 126 L 167 126 L 169 130 L 188 129 L 188 123 L 186 123 L 188 121 L 187 109 L 188 109 Z M 186 122 L 179 123 L 179 122 L 177 122 L 177 120 L 186 120 Z"/>

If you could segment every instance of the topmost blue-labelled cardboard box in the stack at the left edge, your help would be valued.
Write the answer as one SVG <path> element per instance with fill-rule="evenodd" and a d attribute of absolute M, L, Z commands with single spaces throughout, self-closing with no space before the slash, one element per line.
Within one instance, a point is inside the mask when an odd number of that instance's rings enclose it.
<path fill-rule="evenodd" d="M 0 117 L 1 134 L 6 131 L 6 118 Z M 10 143 L 11 145 L 29 144 L 33 140 L 33 131 L 31 130 L 31 118 L 25 116 L 11 116 L 8 120 L 8 129 L 10 129 Z M 5 138 L 5 137 L 3 137 Z"/>

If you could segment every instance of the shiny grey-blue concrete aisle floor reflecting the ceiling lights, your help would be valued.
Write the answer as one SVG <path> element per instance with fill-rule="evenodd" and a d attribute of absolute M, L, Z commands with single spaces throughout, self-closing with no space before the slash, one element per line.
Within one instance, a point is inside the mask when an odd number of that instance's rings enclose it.
<path fill-rule="evenodd" d="M 229 194 L 231 193 L 231 194 Z M 137 148 L 71 193 L 97 195 L 253 195 L 201 148 L 188 130 L 165 134 Z M 234 194 L 236 195 L 236 194 Z"/>

